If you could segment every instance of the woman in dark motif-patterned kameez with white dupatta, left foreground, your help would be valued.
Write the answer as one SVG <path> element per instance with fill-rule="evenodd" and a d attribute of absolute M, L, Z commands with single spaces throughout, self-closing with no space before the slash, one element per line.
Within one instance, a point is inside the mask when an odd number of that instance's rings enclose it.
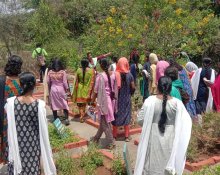
<path fill-rule="evenodd" d="M 36 79 L 32 73 L 19 76 L 21 96 L 7 99 L 9 175 L 56 175 L 49 142 L 45 102 L 35 99 Z"/>

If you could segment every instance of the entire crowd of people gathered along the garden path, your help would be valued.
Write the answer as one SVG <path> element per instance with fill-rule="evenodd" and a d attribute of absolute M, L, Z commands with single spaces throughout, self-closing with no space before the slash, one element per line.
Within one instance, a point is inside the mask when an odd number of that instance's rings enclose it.
<path fill-rule="evenodd" d="M 44 52 L 42 50 L 34 52 Z M 33 53 L 34 54 L 34 53 Z M 44 53 L 45 54 L 45 53 Z M 60 59 L 52 59 L 48 68 L 41 63 L 40 82 L 54 120 L 63 110 L 69 125 L 67 96 L 77 104 L 80 122 L 84 122 L 87 105 L 99 116 L 99 128 L 91 141 L 98 143 L 103 132 L 108 149 L 115 147 L 117 129 L 124 127 L 129 142 L 131 96 L 140 87 L 143 106 L 137 122 L 142 126 L 134 174 L 182 174 L 191 135 L 192 121 L 207 111 L 220 112 L 220 63 L 211 69 L 212 60 L 203 58 L 203 67 L 193 62 L 180 65 L 175 60 L 158 59 L 147 53 L 143 66 L 137 50 L 125 57 L 106 58 L 111 53 L 81 60 L 70 93 L 67 73 Z M 35 55 L 38 62 L 44 58 Z M 97 65 L 100 65 L 100 70 Z M 0 161 L 8 163 L 9 174 L 40 174 L 40 160 L 45 174 L 56 174 L 47 129 L 46 103 L 33 96 L 36 78 L 31 72 L 21 73 L 22 59 L 13 55 L 0 76 Z M 139 84 L 139 77 L 143 79 Z M 214 101 L 214 103 L 213 103 Z M 214 104 L 214 105 L 213 105 Z M 61 119 L 61 118 L 60 118 Z"/>

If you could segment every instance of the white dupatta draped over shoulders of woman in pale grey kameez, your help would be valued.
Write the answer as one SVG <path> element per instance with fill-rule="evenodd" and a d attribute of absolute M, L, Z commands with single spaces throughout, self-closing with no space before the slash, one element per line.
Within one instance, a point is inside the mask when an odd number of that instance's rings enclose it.
<path fill-rule="evenodd" d="M 143 125 L 141 139 L 138 145 L 137 159 L 134 175 L 142 175 L 146 153 L 149 147 L 149 138 L 154 117 L 154 107 L 156 96 L 147 98 L 138 114 L 138 123 Z M 172 151 L 166 170 L 171 175 L 181 175 L 183 173 L 186 161 L 186 151 L 191 137 L 192 120 L 186 111 L 183 103 L 176 99 L 177 112 L 175 117 L 175 136 L 172 145 Z"/>

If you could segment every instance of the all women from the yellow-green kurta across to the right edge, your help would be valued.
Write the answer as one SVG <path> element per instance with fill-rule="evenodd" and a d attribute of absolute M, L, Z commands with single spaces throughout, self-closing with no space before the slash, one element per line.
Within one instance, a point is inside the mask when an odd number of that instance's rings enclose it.
<path fill-rule="evenodd" d="M 141 75 L 144 104 L 137 121 L 142 134 L 134 174 L 182 174 L 192 121 L 200 122 L 205 112 L 219 112 L 220 63 L 214 71 L 207 57 L 202 59 L 202 68 L 189 60 L 186 65 L 173 59 L 159 60 L 154 53 L 147 54 L 141 66 L 137 51 L 130 61 L 113 58 L 111 66 L 106 59 L 99 61 L 99 73 L 89 66 L 88 59 L 83 59 L 82 68 L 77 70 L 73 100 L 80 111 L 89 104 L 99 112 L 100 126 L 92 141 L 98 143 L 105 132 L 109 148 L 114 147 L 118 126 L 124 126 L 125 141 L 129 141 L 131 95 Z M 81 119 L 84 115 L 80 112 Z"/>

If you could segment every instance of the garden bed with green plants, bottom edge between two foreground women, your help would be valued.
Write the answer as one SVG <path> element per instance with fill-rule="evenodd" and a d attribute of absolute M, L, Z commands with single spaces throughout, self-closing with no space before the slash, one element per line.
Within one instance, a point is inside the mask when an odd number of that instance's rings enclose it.
<path fill-rule="evenodd" d="M 112 175 L 125 174 L 121 158 L 91 144 L 81 155 L 70 156 L 68 152 L 59 152 L 56 158 L 58 175 Z"/>

